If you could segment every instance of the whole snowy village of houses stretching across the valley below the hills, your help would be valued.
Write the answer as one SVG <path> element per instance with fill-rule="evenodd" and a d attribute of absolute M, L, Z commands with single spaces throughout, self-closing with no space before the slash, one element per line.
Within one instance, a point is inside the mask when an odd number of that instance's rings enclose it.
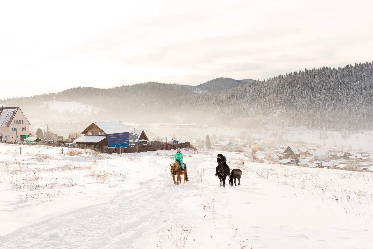
<path fill-rule="evenodd" d="M 76 132 L 76 123 L 86 125 Z M 68 124 L 74 124 L 66 126 Z M 54 147 L 94 149 L 101 153 L 133 153 L 154 150 L 170 150 L 193 146 L 197 150 L 220 150 L 243 152 L 250 161 L 297 165 L 310 168 L 329 168 L 352 171 L 373 172 L 373 153 L 348 150 L 342 147 L 326 147 L 313 144 L 280 144 L 273 141 L 248 141 L 240 136 L 216 134 L 206 137 L 181 135 L 184 129 L 211 128 L 211 125 L 149 123 L 123 124 L 120 121 L 103 122 L 65 122 L 52 125 L 55 131 L 62 131 L 68 138 L 51 131 L 31 131 L 32 125 L 19 107 L 0 109 L 0 142 L 21 143 L 27 145 L 43 144 Z M 84 127 L 84 126 L 81 126 Z M 131 127 L 131 128 L 129 128 Z M 133 127 L 133 128 L 132 128 Z M 67 129 L 66 129 L 67 128 Z M 73 130 L 72 132 L 70 132 Z M 167 137 L 162 132 L 177 131 Z M 41 131 L 41 133 L 40 133 Z M 38 137 L 38 135 L 43 137 Z M 45 135 L 44 135 L 45 134 Z M 149 138 L 151 135 L 152 138 Z M 50 138 L 48 138 L 50 136 Z M 53 137 L 53 138 L 52 138 Z"/>

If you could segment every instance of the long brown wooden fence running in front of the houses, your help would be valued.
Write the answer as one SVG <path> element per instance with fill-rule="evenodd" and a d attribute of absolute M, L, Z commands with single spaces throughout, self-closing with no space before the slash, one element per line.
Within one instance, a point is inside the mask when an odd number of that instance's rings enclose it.
<path fill-rule="evenodd" d="M 159 144 L 150 144 L 150 145 L 142 145 L 142 146 L 131 146 L 131 147 L 107 147 L 107 146 L 98 146 L 98 145 L 89 145 L 89 144 L 68 144 L 68 143 L 47 143 L 47 142 L 36 142 L 36 143 L 10 143 L 8 144 L 22 144 L 22 145 L 46 145 L 46 146 L 53 146 L 53 147 L 68 147 L 68 148 L 75 148 L 75 149 L 86 149 L 86 150 L 94 150 L 95 152 L 99 153 L 134 153 L 134 152 L 145 152 L 145 151 L 154 151 L 154 150 L 176 150 L 178 148 L 188 148 L 190 147 L 190 143 L 179 143 L 179 144 L 172 144 L 172 143 L 159 143 Z"/>

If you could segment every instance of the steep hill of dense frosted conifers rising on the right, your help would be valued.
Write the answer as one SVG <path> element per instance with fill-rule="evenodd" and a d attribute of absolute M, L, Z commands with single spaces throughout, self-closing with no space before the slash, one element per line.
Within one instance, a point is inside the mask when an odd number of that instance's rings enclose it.
<path fill-rule="evenodd" d="M 217 120 L 245 125 L 372 129 L 373 64 L 305 69 L 183 100 L 183 109 L 201 113 L 201 106 Z"/>

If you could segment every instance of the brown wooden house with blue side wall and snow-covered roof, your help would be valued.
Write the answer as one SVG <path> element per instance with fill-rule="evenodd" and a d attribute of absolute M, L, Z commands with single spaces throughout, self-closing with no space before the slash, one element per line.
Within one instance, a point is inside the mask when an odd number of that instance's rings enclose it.
<path fill-rule="evenodd" d="M 93 122 L 74 140 L 77 144 L 129 147 L 129 128 L 120 121 Z"/>

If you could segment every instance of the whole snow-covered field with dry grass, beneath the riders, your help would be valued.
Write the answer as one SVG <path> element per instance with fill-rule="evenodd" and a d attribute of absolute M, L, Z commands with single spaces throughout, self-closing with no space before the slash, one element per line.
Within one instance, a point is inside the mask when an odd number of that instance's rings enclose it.
<path fill-rule="evenodd" d="M 217 151 L 95 154 L 0 144 L 0 248 L 371 248 L 373 174 L 250 162 L 220 187 Z"/>

